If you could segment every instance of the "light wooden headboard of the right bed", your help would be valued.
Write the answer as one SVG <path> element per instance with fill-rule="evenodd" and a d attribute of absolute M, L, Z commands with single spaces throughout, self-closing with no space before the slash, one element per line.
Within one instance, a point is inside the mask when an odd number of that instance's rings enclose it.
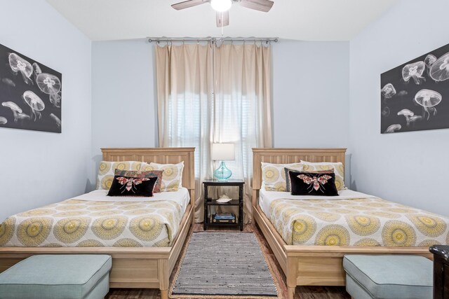
<path fill-rule="evenodd" d="M 253 148 L 253 206 L 262 184 L 261 162 L 276 164 L 300 162 L 342 162 L 346 148 Z"/>

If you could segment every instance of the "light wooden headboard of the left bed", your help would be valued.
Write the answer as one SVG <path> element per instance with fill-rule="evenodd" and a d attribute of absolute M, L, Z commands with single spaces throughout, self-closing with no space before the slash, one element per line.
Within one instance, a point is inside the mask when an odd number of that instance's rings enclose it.
<path fill-rule="evenodd" d="M 105 161 L 142 161 L 176 164 L 184 161 L 182 186 L 189 189 L 190 202 L 195 202 L 195 148 L 102 148 Z"/>

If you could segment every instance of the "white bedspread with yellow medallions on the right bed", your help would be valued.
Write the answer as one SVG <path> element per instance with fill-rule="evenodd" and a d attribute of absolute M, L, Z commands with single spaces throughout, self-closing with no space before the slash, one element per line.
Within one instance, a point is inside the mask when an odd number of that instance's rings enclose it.
<path fill-rule="evenodd" d="M 449 218 L 377 197 L 274 200 L 269 218 L 288 245 L 449 244 Z"/>

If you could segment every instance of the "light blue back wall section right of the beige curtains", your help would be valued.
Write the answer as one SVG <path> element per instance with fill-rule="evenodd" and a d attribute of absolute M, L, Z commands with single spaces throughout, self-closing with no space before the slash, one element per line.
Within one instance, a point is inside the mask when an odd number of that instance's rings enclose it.
<path fill-rule="evenodd" d="M 274 147 L 347 147 L 349 42 L 273 46 Z"/>

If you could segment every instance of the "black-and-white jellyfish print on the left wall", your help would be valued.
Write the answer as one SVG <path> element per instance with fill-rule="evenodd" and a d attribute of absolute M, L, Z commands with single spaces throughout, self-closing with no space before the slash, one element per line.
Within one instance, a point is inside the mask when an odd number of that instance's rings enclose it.
<path fill-rule="evenodd" d="M 0 127 L 61 132 L 62 74 L 0 45 Z"/>

